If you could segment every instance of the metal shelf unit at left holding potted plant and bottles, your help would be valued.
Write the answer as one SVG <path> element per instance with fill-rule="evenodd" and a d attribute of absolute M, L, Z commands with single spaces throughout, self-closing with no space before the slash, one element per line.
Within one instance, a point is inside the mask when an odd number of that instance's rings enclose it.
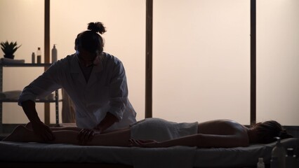
<path fill-rule="evenodd" d="M 3 92 L 3 69 L 5 67 L 49 67 L 51 66 L 50 63 L 44 63 L 44 64 L 0 64 L 0 92 Z M 3 103 L 17 103 L 17 99 L 1 99 L 0 100 L 0 132 L 3 130 L 3 109 L 2 104 Z M 36 99 L 36 103 L 55 103 L 55 122 L 56 125 L 59 124 L 59 102 L 62 102 L 62 99 L 59 99 L 58 97 L 58 90 L 55 90 L 54 99 L 53 100 L 42 100 L 42 99 Z"/>

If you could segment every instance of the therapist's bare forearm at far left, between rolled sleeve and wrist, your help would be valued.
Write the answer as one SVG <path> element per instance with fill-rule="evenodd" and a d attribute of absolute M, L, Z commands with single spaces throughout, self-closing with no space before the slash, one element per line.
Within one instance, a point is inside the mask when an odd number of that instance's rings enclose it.
<path fill-rule="evenodd" d="M 26 100 L 22 102 L 21 105 L 23 111 L 25 112 L 30 122 L 32 123 L 41 122 L 35 109 L 35 102 L 33 102 L 32 100 Z"/>

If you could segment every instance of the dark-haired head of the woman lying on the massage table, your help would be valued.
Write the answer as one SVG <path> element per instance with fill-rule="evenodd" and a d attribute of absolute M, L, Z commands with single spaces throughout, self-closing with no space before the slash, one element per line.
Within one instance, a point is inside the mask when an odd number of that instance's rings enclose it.
<path fill-rule="evenodd" d="M 291 138 L 291 134 L 288 134 L 286 130 L 274 120 L 265 121 L 264 123 L 256 123 L 251 127 L 256 133 L 257 143 L 267 144 L 275 141 L 274 137 L 280 137 L 280 139 Z"/>

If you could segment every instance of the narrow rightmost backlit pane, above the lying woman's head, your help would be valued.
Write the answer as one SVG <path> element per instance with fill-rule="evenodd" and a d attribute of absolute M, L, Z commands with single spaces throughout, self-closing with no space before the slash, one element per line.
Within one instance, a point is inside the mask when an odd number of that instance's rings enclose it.
<path fill-rule="evenodd" d="M 257 120 L 299 125 L 299 1 L 257 1 Z"/>

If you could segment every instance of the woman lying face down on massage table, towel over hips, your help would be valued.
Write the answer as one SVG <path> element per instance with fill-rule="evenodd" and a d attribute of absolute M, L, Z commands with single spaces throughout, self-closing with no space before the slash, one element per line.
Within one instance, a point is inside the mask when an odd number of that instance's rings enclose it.
<path fill-rule="evenodd" d="M 283 127 L 270 120 L 250 128 L 234 120 L 211 120 L 203 123 L 174 123 L 160 118 L 147 118 L 123 130 L 89 134 L 88 139 L 78 139 L 77 127 L 53 127 L 54 141 L 37 137 L 30 124 L 19 125 L 3 141 L 77 144 L 88 146 L 198 146 L 200 148 L 232 148 L 249 144 L 267 144 L 274 137 L 289 138 Z"/>

